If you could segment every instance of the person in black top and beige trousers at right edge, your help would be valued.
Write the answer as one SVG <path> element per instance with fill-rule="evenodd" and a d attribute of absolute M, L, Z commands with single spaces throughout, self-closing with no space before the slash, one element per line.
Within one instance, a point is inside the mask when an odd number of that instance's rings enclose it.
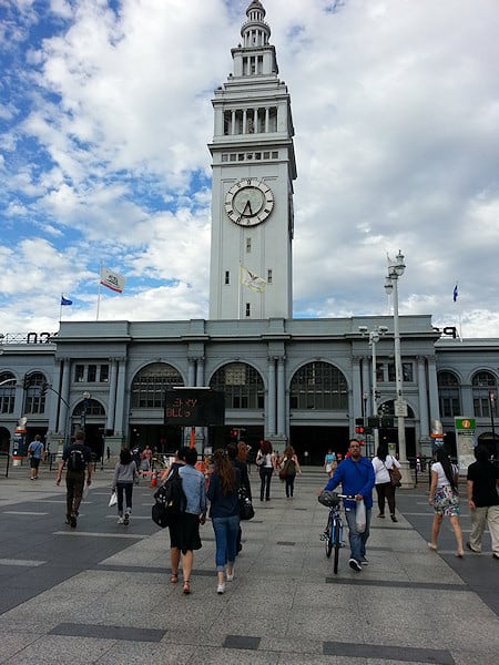
<path fill-rule="evenodd" d="M 471 532 L 466 543 L 468 550 L 481 552 L 481 540 L 486 523 L 492 541 L 492 556 L 499 559 L 499 467 L 489 460 L 483 443 L 475 448 L 476 462 L 468 467 L 466 488 L 471 516 Z"/>

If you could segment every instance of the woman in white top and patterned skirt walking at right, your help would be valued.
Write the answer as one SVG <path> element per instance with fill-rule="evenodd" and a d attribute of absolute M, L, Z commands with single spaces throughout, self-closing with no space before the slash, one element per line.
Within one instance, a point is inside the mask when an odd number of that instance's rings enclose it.
<path fill-rule="evenodd" d="M 437 551 L 438 533 L 447 515 L 456 536 L 456 556 L 462 559 L 462 532 L 459 525 L 459 494 L 458 481 L 459 470 L 456 464 L 450 463 L 449 456 L 444 448 L 438 448 L 435 453 L 435 463 L 431 467 L 431 485 L 428 503 L 434 507 L 434 522 L 431 524 L 431 541 L 428 543 L 430 550 Z"/>

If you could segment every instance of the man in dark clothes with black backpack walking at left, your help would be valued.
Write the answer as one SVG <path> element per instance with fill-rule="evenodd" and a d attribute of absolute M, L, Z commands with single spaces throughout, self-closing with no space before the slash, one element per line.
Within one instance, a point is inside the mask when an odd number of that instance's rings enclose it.
<path fill-rule="evenodd" d="M 64 449 L 62 460 L 59 462 L 58 478 L 55 484 L 61 483 L 62 470 L 64 464 L 68 467 L 65 472 L 65 523 L 77 528 L 78 511 L 83 495 L 83 487 L 92 482 L 92 451 L 84 444 L 84 433 L 82 430 L 74 436 L 74 443 Z"/>

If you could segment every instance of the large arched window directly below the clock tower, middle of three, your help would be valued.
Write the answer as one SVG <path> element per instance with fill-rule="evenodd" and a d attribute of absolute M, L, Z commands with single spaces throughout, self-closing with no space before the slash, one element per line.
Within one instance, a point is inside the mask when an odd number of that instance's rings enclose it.
<path fill-rule="evenodd" d="M 225 395 L 226 409 L 263 409 L 265 391 L 259 374 L 245 362 L 221 367 L 210 381 L 212 390 Z"/>

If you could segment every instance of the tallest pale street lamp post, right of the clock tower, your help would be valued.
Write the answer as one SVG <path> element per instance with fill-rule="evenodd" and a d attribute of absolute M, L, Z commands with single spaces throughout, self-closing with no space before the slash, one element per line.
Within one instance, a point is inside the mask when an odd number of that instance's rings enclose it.
<path fill-rule="evenodd" d="M 400 328 L 398 320 L 398 278 L 405 273 L 404 254 L 398 250 L 395 259 L 388 257 L 388 275 L 385 280 L 385 290 L 388 295 L 394 294 L 394 342 L 395 342 L 395 389 L 396 399 L 394 402 L 395 415 L 397 417 L 398 429 L 398 456 L 403 467 L 403 483 L 404 470 L 407 471 L 407 481 L 409 481 L 409 469 L 407 463 L 406 451 L 406 423 L 407 402 L 403 396 L 403 370 L 401 370 L 401 352 L 400 352 Z"/>

